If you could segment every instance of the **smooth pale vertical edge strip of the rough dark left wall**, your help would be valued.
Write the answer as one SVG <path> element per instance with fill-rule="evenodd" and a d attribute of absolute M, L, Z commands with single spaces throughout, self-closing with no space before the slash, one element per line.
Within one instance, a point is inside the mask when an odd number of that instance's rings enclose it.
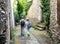
<path fill-rule="evenodd" d="M 7 37 L 7 41 L 6 44 L 10 44 L 10 0 L 6 0 L 6 4 L 7 4 L 7 11 L 6 11 L 6 15 L 7 15 L 7 33 L 6 33 L 6 37 Z"/>

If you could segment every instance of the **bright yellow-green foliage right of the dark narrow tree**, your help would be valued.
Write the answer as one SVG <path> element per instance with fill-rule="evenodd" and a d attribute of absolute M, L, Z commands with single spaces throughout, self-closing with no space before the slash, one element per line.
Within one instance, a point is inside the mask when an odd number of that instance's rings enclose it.
<path fill-rule="evenodd" d="M 30 6 L 32 4 L 32 1 L 27 2 L 27 0 L 24 0 L 24 1 L 20 0 L 19 2 L 20 2 L 20 4 L 23 7 L 23 12 L 22 12 L 21 16 L 26 16 L 27 15 L 27 11 L 28 11 L 28 9 L 30 8 Z"/>

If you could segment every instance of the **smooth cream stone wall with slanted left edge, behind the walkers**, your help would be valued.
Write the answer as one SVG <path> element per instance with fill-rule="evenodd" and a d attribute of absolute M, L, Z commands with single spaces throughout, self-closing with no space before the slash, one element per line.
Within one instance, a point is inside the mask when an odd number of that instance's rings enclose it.
<path fill-rule="evenodd" d="M 30 19 L 33 25 L 37 22 L 41 22 L 40 0 L 33 0 L 30 9 L 27 12 L 27 18 Z"/>

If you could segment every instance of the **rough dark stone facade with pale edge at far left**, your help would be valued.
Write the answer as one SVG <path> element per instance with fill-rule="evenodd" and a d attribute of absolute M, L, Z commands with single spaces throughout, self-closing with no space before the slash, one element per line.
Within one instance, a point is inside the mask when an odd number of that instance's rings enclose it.
<path fill-rule="evenodd" d="M 0 44 L 9 44 L 10 26 L 9 26 L 9 0 L 0 0 Z"/>

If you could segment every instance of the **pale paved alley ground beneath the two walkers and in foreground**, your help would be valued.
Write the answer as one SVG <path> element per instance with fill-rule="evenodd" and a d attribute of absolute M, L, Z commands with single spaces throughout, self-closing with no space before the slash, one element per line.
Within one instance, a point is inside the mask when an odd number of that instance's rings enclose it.
<path fill-rule="evenodd" d="M 20 33 L 20 26 L 17 26 L 15 44 L 51 44 L 51 42 L 49 42 L 49 38 L 46 35 L 46 31 L 38 31 L 31 28 L 30 37 L 21 37 Z"/>

